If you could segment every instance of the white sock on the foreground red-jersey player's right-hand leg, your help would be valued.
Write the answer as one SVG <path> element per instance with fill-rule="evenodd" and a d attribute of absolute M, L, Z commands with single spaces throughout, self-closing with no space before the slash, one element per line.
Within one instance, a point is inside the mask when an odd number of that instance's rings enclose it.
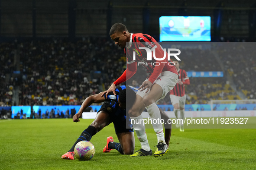
<path fill-rule="evenodd" d="M 157 143 L 158 142 L 163 142 L 165 144 L 165 136 L 164 136 L 164 130 L 163 130 L 163 126 L 160 123 L 161 120 L 161 114 L 160 114 L 160 110 L 157 107 L 156 103 L 150 104 L 149 106 L 146 107 L 146 110 L 149 113 L 150 118 L 152 119 L 152 122 L 154 120 L 159 120 L 159 123 L 152 123 L 152 126 L 156 132 L 156 136 L 157 136 Z"/>

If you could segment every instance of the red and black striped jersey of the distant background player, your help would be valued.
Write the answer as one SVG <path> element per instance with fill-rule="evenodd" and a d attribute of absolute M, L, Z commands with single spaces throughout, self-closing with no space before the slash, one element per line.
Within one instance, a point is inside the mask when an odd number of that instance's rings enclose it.
<path fill-rule="evenodd" d="M 178 70 L 178 81 L 183 82 L 182 85 L 179 85 L 178 83 L 174 86 L 174 88 L 171 90 L 170 94 L 173 94 L 175 96 L 184 96 L 185 95 L 185 84 L 190 84 L 189 78 L 187 76 L 187 73 L 184 69 Z M 187 83 L 185 83 L 187 82 Z"/>

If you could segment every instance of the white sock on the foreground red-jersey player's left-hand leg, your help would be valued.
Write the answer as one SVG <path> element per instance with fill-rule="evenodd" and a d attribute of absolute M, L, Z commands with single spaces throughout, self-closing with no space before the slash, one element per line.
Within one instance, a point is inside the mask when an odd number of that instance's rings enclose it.
<path fill-rule="evenodd" d="M 136 132 L 141 148 L 143 148 L 145 151 L 150 151 L 149 142 L 146 134 L 146 127 L 143 126 L 143 121 L 140 124 L 140 120 L 143 120 L 142 115 L 139 115 L 138 117 L 130 117 L 131 122 L 133 123 L 133 129 Z"/>

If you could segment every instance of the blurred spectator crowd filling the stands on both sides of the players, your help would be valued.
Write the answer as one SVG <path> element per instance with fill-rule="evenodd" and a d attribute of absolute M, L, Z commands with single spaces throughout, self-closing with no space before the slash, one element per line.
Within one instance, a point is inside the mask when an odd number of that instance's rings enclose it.
<path fill-rule="evenodd" d="M 230 51 L 220 47 L 220 58 L 237 88 L 247 98 L 256 99 L 253 44 L 237 49 L 248 55 L 230 55 Z M 181 60 L 180 68 L 186 71 L 222 71 L 207 49 L 185 50 L 181 58 L 184 60 Z M 20 77 L 12 76 L 11 73 L 18 68 Z M 107 89 L 125 69 L 123 49 L 106 38 L 82 38 L 75 43 L 65 38 L 1 43 L 0 106 L 13 104 L 15 86 L 19 86 L 19 103 L 14 105 L 81 105 L 88 96 Z M 142 67 L 137 69 L 139 74 L 133 80 L 139 87 L 146 79 L 146 72 Z M 141 72 L 145 77 L 141 77 Z M 185 86 L 186 104 L 207 104 L 211 99 L 240 99 L 226 77 L 190 78 L 190 82 Z M 132 85 L 132 80 L 129 85 Z M 169 95 L 159 104 L 171 104 Z"/>

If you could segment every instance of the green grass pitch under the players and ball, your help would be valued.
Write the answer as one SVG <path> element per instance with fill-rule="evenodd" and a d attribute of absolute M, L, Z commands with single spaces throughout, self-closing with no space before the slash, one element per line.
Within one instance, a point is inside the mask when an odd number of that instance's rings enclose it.
<path fill-rule="evenodd" d="M 92 120 L 0 120 L 0 169 L 256 169 L 256 129 L 172 130 L 164 157 L 129 157 L 113 150 L 103 153 L 107 137 L 118 142 L 113 124 L 94 135 L 90 161 L 63 160 Z M 154 153 L 156 134 L 146 129 Z M 140 148 L 135 136 L 135 150 Z"/>

